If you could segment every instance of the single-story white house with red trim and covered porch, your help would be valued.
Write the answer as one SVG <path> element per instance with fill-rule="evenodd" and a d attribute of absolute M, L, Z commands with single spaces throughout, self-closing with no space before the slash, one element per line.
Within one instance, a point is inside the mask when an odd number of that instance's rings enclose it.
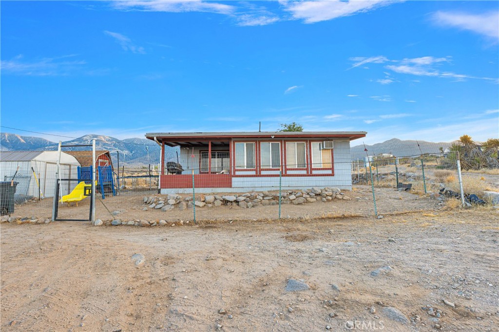
<path fill-rule="evenodd" d="M 154 132 L 161 194 L 352 188 L 350 141 L 365 131 Z M 165 146 L 180 154 L 165 158 Z M 281 176 L 279 176 L 281 172 Z"/>

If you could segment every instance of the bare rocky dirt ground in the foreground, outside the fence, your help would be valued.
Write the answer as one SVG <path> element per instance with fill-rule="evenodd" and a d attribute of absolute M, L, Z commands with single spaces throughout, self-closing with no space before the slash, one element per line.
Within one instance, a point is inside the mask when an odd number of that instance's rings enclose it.
<path fill-rule="evenodd" d="M 498 221 L 477 208 L 173 227 L 2 223 L 0 329 L 497 331 Z M 289 279 L 308 289 L 286 291 Z"/>

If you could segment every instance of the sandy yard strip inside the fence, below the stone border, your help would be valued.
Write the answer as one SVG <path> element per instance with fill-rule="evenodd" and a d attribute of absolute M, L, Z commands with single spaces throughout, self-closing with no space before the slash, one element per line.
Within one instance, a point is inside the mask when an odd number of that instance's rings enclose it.
<path fill-rule="evenodd" d="M 273 192 L 272 192 L 273 193 Z M 278 193 L 278 192 L 275 192 Z M 335 199 L 332 202 L 305 203 L 302 205 L 282 204 L 281 218 L 310 219 L 317 217 L 337 216 L 374 216 L 374 204 L 371 186 L 356 185 L 353 191 L 344 191 L 345 195 L 352 200 L 344 201 Z M 221 196 L 223 194 L 220 194 Z M 409 192 L 399 192 L 393 188 L 375 188 L 376 208 L 378 214 L 390 214 L 407 211 L 433 210 L 442 208 L 438 201 L 424 195 Z M 178 206 L 171 211 L 163 212 L 160 209 L 143 209 L 144 197 L 155 196 L 166 198 L 166 195 L 158 195 L 157 191 L 138 191 L 122 193 L 118 196 L 106 196 L 104 200 L 97 197 L 96 219 L 111 221 L 148 220 L 148 221 L 194 221 L 193 209 L 180 211 Z M 189 195 L 182 195 L 187 197 Z M 166 200 L 166 199 L 165 199 Z M 59 219 L 89 219 L 90 200 L 85 199 L 68 206 L 59 204 Z M 119 214 L 113 216 L 112 213 Z M 51 218 L 52 198 L 42 201 L 32 201 L 25 205 L 16 205 L 14 216 Z M 196 208 L 196 219 L 198 221 L 228 221 L 228 220 L 269 220 L 278 219 L 279 207 L 256 206 L 251 209 L 243 209 L 237 206 L 203 207 Z"/>

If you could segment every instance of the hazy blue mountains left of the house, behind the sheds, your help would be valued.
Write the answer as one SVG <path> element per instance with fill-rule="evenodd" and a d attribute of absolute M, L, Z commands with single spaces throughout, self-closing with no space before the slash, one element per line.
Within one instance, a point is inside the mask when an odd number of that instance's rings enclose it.
<path fill-rule="evenodd" d="M 117 139 L 110 136 L 88 134 L 69 141 L 64 141 L 63 145 L 92 144 L 95 138 L 97 150 L 109 150 L 113 164 L 117 166 L 118 154 L 120 166 L 125 165 L 148 165 L 157 164 L 160 159 L 160 146 L 147 138 L 127 138 Z M 12 150 L 57 150 L 58 143 L 51 142 L 40 137 L 20 136 L 11 133 L 1 133 L 0 146 L 2 151 Z M 69 147 L 64 148 L 69 151 L 82 151 L 91 149 L 89 147 Z M 167 146 L 165 155 L 173 156 L 178 148 Z"/>

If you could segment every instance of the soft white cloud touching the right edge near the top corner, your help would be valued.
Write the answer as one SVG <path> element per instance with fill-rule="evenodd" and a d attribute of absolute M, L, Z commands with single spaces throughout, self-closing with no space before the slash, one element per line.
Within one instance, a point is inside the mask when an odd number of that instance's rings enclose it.
<path fill-rule="evenodd" d="M 499 40 L 499 11 L 497 10 L 481 14 L 437 11 L 433 13 L 432 19 L 442 26 L 473 31 L 493 38 L 496 42 Z"/>

